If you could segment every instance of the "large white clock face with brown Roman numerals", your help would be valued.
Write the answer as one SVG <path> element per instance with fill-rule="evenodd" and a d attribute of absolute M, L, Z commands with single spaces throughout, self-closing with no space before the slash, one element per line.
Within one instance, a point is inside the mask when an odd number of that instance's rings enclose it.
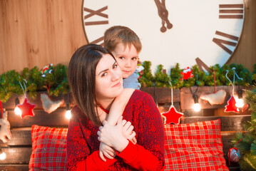
<path fill-rule="evenodd" d="M 103 44 L 111 26 L 128 26 L 143 44 L 140 61 L 152 71 L 225 64 L 237 47 L 244 21 L 243 0 L 83 0 L 83 28 L 89 43 Z"/>

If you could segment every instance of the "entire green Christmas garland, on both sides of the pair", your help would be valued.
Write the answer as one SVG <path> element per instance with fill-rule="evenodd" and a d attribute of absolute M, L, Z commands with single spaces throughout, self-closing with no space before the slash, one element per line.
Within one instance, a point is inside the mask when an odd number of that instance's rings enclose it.
<path fill-rule="evenodd" d="M 210 66 L 210 72 L 205 73 L 200 71 L 197 65 L 191 68 L 193 77 L 183 79 L 183 69 L 180 68 L 179 63 L 171 69 L 170 74 L 163 71 L 163 65 L 159 65 L 155 76 L 153 76 L 150 66 L 150 61 L 142 63 L 143 73 L 140 72 L 139 82 L 142 87 L 170 87 L 171 81 L 173 88 L 183 88 L 190 86 L 231 86 L 230 81 L 225 77 L 226 71 L 231 68 L 236 68 L 238 76 L 242 80 L 235 81 L 235 85 L 249 86 L 256 83 L 256 64 L 255 70 L 250 73 L 247 68 L 241 64 L 224 65 L 220 67 L 218 64 Z M 233 73 L 227 75 L 232 78 Z M 214 79 L 215 78 L 215 79 Z M 67 67 L 58 64 L 56 66 L 49 65 L 39 70 L 37 66 L 29 70 L 24 68 L 21 73 L 14 70 L 1 74 L 0 76 L 0 100 L 6 102 L 14 93 L 17 95 L 23 94 L 21 83 L 26 82 L 26 91 L 29 92 L 31 98 L 36 98 L 37 91 L 48 91 L 48 95 L 58 96 L 61 93 L 66 94 L 70 91 L 67 78 Z"/>

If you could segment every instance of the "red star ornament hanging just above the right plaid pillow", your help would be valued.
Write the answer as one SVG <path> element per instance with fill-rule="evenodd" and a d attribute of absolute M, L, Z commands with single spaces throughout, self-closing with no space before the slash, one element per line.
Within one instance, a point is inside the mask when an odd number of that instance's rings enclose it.
<path fill-rule="evenodd" d="M 170 106 L 170 109 L 168 112 L 162 113 L 161 115 L 165 116 L 166 118 L 166 124 L 169 123 L 179 123 L 180 118 L 183 117 L 183 113 L 177 112 L 177 110 L 174 108 L 174 106 Z"/>

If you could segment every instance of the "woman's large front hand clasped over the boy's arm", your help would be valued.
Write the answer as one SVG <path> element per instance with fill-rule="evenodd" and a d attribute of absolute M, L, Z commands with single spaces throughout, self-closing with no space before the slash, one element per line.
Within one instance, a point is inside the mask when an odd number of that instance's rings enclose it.
<path fill-rule="evenodd" d="M 103 127 L 99 128 L 98 140 L 106 145 L 115 148 L 118 152 L 123 151 L 128 145 L 128 140 L 123 136 L 123 116 L 118 119 L 118 123 L 115 126 L 108 124 L 108 121 L 103 121 Z"/>

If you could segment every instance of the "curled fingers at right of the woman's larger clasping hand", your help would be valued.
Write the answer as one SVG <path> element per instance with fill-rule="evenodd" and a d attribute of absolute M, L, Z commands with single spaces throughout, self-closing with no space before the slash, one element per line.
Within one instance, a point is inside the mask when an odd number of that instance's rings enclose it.
<path fill-rule="evenodd" d="M 125 136 L 128 140 L 133 142 L 133 144 L 137 143 L 137 140 L 135 138 L 135 131 L 133 131 L 133 125 L 131 125 L 130 121 L 122 120 L 123 125 L 123 136 Z"/>

